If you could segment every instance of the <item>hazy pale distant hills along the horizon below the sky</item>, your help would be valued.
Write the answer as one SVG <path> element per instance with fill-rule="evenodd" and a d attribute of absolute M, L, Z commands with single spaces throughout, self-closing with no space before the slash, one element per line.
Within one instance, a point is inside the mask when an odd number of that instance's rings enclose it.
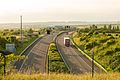
<path fill-rule="evenodd" d="M 120 24 L 120 22 L 81 22 L 81 21 L 68 21 L 68 22 L 31 22 L 31 23 L 23 23 L 23 28 L 41 28 L 41 27 L 53 27 L 53 26 L 65 26 L 65 25 L 91 25 L 91 24 Z M 0 29 L 8 29 L 8 28 L 20 28 L 20 23 L 0 23 Z"/>

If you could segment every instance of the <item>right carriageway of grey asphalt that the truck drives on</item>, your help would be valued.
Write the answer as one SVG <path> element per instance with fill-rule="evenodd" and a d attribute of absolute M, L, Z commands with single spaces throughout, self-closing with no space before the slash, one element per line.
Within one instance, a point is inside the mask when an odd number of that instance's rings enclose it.
<path fill-rule="evenodd" d="M 56 38 L 56 45 L 66 64 L 72 73 L 91 73 L 91 61 L 81 54 L 71 43 L 70 47 L 64 46 L 65 33 Z M 103 70 L 95 66 L 95 72 L 101 73 Z"/>

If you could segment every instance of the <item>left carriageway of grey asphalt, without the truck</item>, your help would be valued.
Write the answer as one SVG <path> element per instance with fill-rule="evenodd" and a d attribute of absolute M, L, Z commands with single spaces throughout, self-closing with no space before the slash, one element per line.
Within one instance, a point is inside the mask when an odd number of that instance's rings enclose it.
<path fill-rule="evenodd" d="M 20 72 L 39 72 L 46 73 L 46 61 L 48 47 L 56 34 L 46 35 L 41 38 L 25 55 L 27 58 L 17 64 Z"/>

